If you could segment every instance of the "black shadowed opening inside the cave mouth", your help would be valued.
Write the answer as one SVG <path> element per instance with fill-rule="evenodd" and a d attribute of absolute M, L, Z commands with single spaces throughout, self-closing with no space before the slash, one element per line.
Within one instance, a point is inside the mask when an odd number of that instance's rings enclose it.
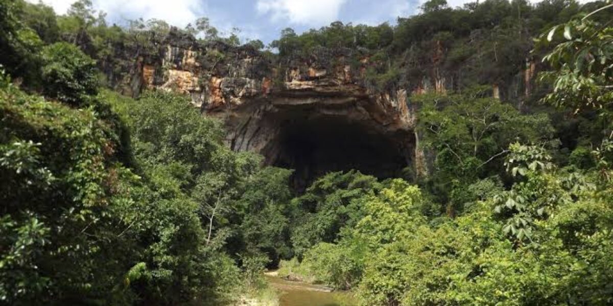
<path fill-rule="evenodd" d="M 262 152 L 266 163 L 294 169 L 297 192 L 333 171 L 354 169 L 385 179 L 400 177 L 410 164 L 413 133 L 387 130 L 364 116 L 292 108 L 266 121 L 277 125 L 276 136 Z"/>

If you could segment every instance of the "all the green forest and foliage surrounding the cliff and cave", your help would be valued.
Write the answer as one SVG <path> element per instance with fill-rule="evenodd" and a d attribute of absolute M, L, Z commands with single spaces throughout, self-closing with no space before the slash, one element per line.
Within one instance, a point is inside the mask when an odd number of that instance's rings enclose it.
<path fill-rule="evenodd" d="M 105 88 L 129 77 L 116 52 L 151 48 L 163 21 L 0 0 L 0 304 L 232 304 L 277 266 L 364 305 L 612 304 L 611 4 L 422 10 L 272 43 L 280 62 L 370 56 L 378 90 L 409 86 L 437 45 L 463 75 L 411 97 L 427 174 L 329 173 L 295 195 L 291 170 L 230 151 L 188 97 Z M 491 97 L 531 49 L 540 91 L 521 110 Z"/>

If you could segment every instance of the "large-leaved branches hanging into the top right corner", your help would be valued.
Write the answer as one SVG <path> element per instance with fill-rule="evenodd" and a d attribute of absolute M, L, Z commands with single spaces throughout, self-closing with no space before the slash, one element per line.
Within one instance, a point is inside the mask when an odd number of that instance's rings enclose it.
<path fill-rule="evenodd" d="M 596 14 L 613 10 L 608 4 L 581 20 L 554 26 L 541 35 L 541 42 L 558 42 L 543 61 L 553 71 L 541 74 L 541 80 L 550 81 L 554 91 L 544 101 L 557 106 L 609 110 L 613 101 L 613 28 L 610 23 L 593 20 Z"/>

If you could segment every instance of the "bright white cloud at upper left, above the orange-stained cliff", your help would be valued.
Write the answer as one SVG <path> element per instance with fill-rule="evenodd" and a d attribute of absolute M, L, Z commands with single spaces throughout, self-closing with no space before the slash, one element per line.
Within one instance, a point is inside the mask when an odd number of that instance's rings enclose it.
<path fill-rule="evenodd" d="M 38 0 L 28 0 L 38 2 Z M 75 0 L 42 0 L 56 13 L 64 14 Z M 93 0 L 94 9 L 102 10 L 111 20 L 158 18 L 175 26 L 185 26 L 203 16 L 206 3 L 200 0 Z"/>

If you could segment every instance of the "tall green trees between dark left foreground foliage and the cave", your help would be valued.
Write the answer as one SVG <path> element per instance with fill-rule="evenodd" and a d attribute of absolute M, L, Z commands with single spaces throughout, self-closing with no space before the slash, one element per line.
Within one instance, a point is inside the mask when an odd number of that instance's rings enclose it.
<path fill-rule="evenodd" d="M 241 282 L 234 261 L 242 254 L 227 249 L 242 249 L 226 246 L 240 236 L 238 198 L 259 159 L 224 146 L 221 122 L 202 116 L 183 95 L 145 92 L 135 101 L 105 91 L 102 97 L 126 119 L 145 181 L 139 196 L 148 210 L 138 224 L 147 236 L 146 269 L 130 288 L 153 304 L 219 305 L 235 298 Z"/>

